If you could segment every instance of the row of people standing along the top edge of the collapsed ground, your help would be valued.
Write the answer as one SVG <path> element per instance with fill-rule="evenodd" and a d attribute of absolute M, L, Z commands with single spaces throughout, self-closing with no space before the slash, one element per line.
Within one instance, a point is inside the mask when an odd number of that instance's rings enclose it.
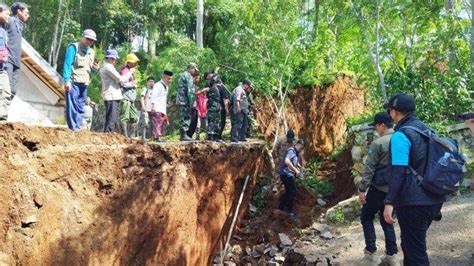
<path fill-rule="evenodd" d="M 92 72 L 101 78 L 101 95 L 105 104 L 104 132 L 114 132 L 116 124 L 129 138 L 139 132 L 146 139 L 151 128 L 153 141 L 163 141 L 162 135 L 170 121 L 167 115 L 169 86 L 173 72 L 165 70 L 161 80 L 149 77 L 140 94 L 140 112 L 135 107 L 137 82 L 135 71 L 138 57 L 130 53 L 125 65 L 119 70 L 116 50 L 107 50 L 104 63 L 99 65 L 91 48 L 97 40 L 96 33 L 87 29 L 80 42 L 72 43 L 66 50 L 63 77 L 66 91 L 66 120 L 71 130 L 81 129 L 84 114 L 90 109 L 87 87 Z M 252 82 L 244 80 L 230 93 L 219 77 L 219 68 L 204 73 L 204 84 L 200 84 L 198 66 L 190 63 L 179 76 L 176 104 L 179 106 L 179 130 L 181 141 L 200 140 L 201 133 L 209 141 L 223 141 L 226 117 L 231 117 L 231 142 L 245 142 L 252 125 Z"/>

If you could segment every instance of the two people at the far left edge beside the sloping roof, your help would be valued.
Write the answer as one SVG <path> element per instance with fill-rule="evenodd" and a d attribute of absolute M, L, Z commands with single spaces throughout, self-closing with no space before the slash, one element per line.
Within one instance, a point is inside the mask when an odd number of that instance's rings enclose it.
<path fill-rule="evenodd" d="M 11 7 L 0 3 L 0 121 L 7 120 L 17 93 L 23 25 L 29 17 L 25 3 L 16 2 Z"/>

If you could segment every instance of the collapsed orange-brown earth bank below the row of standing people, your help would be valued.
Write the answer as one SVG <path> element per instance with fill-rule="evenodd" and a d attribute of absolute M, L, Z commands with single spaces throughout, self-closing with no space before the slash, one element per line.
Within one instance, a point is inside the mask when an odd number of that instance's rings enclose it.
<path fill-rule="evenodd" d="M 0 264 L 205 265 L 261 143 L 127 142 L 0 125 Z M 242 206 L 247 206 L 246 193 Z"/>

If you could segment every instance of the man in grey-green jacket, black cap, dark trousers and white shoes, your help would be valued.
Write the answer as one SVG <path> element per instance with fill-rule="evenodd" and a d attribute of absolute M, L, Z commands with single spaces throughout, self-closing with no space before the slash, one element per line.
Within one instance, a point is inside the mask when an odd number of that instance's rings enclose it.
<path fill-rule="evenodd" d="M 379 138 L 370 144 L 367 160 L 359 185 L 359 201 L 362 204 L 360 221 L 364 230 L 364 260 L 368 265 L 379 265 L 382 260 L 377 255 L 375 244 L 374 218 L 378 213 L 380 225 L 385 235 L 385 257 L 388 265 L 399 265 L 395 230 L 392 224 L 383 219 L 384 200 L 387 196 L 390 173 L 388 171 L 390 138 L 393 134 L 393 121 L 387 112 L 374 117 L 373 126 Z"/>

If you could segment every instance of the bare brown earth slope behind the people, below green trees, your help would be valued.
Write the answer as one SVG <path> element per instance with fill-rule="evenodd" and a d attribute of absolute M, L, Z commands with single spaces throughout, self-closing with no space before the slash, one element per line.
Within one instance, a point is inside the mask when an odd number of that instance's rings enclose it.
<path fill-rule="evenodd" d="M 273 141 L 276 107 L 266 100 L 256 107 L 259 131 L 266 140 Z M 289 96 L 285 114 L 289 128 L 307 141 L 306 156 L 325 157 L 345 142 L 346 119 L 360 114 L 364 107 L 364 90 L 353 77 L 342 74 L 330 84 L 296 88 Z M 278 134 L 284 135 L 283 127 Z"/>

